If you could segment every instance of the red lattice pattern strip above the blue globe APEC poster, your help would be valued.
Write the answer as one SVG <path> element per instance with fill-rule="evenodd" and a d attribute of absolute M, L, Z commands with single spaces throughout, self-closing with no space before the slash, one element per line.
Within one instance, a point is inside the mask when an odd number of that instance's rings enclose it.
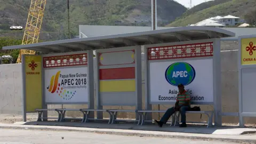
<path fill-rule="evenodd" d="M 213 56 L 213 42 L 148 48 L 148 60 L 180 59 Z"/>

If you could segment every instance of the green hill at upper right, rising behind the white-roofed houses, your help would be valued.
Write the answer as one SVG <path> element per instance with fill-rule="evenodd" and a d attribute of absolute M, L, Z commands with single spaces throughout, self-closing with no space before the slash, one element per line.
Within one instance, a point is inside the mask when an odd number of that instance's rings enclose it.
<path fill-rule="evenodd" d="M 236 17 L 244 18 L 244 15 L 253 10 L 256 6 L 256 0 L 231 0 L 226 1 L 225 3 L 217 3 L 215 2 L 214 6 L 208 7 L 206 9 L 200 10 L 197 7 L 197 10 L 188 13 L 188 11 L 182 15 L 182 17 L 177 18 L 174 22 L 170 23 L 169 27 L 175 26 L 187 26 L 189 24 L 194 24 L 204 19 L 215 17 L 217 15 L 225 16 L 225 15 L 234 15 Z M 220 1 L 219 1 L 220 2 Z M 212 2 L 214 3 L 214 2 Z M 211 3 L 206 3 L 210 6 Z M 204 3 L 201 5 L 205 5 Z M 206 6 L 207 7 L 207 6 Z M 192 9 L 191 9 L 192 10 Z"/>

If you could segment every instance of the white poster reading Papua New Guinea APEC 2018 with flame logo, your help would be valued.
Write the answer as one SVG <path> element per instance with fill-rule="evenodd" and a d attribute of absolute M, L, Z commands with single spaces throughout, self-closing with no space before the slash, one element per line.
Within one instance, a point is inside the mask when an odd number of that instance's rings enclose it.
<path fill-rule="evenodd" d="M 87 72 L 87 67 L 45 69 L 45 102 L 88 102 Z"/>

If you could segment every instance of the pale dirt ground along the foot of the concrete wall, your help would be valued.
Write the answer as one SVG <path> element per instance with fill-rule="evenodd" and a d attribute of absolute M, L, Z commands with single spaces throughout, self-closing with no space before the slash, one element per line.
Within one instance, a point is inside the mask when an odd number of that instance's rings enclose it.
<path fill-rule="evenodd" d="M 37 121 L 37 114 L 28 114 L 27 115 L 27 122 L 33 122 Z M 51 116 L 51 117 L 57 117 L 57 116 Z M 54 121 L 54 120 L 51 120 Z M 22 122 L 22 115 L 16 115 L 16 114 L 0 114 L 0 123 L 5 124 L 13 124 L 15 122 Z M 223 126 L 239 126 L 239 124 L 222 124 Z M 256 124 L 247 124 L 246 127 L 256 127 Z"/>

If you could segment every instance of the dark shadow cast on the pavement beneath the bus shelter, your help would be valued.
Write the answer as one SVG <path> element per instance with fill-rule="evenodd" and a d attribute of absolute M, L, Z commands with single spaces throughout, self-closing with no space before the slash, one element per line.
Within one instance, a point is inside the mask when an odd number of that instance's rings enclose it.
<path fill-rule="evenodd" d="M 188 127 L 178 127 L 164 125 L 158 127 L 157 125 L 137 125 L 129 123 L 107 124 L 97 122 L 26 122 L 23 125 L 48 125 L 48 126 L 69 126 L 69 127 L 87 127 L 96 129 L 121 129 L 121 130 L 140 130 L 140 131 L 162 131 L 162 132 L 182 132 L 182 133 L 201 133 L 201 134 L 227 134 L 227 135 L 239 135 L 247 133 L 255 133 L 254 128 L 238 128 L 233 126 L 222 127 L 209 127 L 204 125 L 188 125 Z"/>

